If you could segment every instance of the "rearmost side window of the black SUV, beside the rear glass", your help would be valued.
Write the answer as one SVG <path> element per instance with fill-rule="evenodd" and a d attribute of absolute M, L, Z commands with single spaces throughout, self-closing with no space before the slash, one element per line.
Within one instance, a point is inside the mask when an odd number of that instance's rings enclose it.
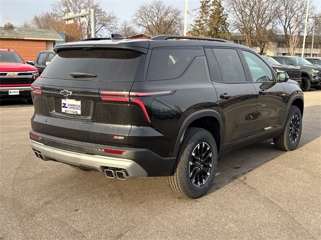
<path fill-rule="evenodd" d="M 196 56 L 204 56 L 203 49 L 154 48 L 151 52 L 147 80 L 178 78 Z"/>

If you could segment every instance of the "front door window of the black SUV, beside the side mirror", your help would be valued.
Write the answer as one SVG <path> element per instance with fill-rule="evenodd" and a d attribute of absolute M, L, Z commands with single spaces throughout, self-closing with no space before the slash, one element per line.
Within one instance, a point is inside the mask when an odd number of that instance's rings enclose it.
<path fill-rule="evenodd" d="M 261 58 L 249 51 L 242 50 L 242 52 L 249 66 L 252 81 L 274 81 L 271 69 Z"/>

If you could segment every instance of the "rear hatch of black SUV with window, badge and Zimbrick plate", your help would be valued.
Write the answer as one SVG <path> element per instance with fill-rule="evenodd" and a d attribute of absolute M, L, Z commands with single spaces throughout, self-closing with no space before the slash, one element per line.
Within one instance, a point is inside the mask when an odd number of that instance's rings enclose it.
<path fill-rule="evenodd" d="M 141 60 L 130 49 L 65 49 L 33 85 L 32 128 L 62 138 L 126 146 L 129 91 Z"/>

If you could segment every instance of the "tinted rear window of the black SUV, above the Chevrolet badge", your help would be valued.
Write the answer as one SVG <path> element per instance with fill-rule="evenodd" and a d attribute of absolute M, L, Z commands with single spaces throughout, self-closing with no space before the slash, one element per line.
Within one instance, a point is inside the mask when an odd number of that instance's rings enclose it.
<path fill-rule="evenodd" d="M 62 50 L 52 59 L 42 77 L 94 81 L 133 81 L 141 53 L 122 49 Z M 73 77 L 70 73 L 96 77 Z"/>

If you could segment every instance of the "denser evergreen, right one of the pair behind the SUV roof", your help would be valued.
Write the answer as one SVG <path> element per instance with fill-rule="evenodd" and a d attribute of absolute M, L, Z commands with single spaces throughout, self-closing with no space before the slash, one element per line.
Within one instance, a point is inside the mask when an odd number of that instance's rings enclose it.
<path fill-rule="evenodd" d="M 224 12 L 221 0 L 213 0 L 211 5 L 212 8 L 207 23 L 209 28 L 208 35 L 210 37 L 229 39 L 229 23 L 227 22 L 227 14 Z"/>

